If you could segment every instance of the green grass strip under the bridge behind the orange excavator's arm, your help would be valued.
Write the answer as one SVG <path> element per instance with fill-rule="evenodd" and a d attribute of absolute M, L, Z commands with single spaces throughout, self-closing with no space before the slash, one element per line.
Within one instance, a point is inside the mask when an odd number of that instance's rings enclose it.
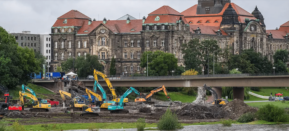
<path fill-rule="evenodd" d="M 168 92 L 168 94 L 170 95 L 172 101 L 181 101 L 186 103 L 196 100 L 195 96 L 189 96 L 187 92 Z M 155 93 L 152 97 L 162 101 L 168 100 L 164 92 Z"/>

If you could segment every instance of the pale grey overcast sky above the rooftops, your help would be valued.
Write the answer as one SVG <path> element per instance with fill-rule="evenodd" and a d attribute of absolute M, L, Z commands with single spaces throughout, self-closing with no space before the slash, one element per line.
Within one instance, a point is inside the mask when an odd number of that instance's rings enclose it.
<path fill-rule="evenodd" d="M 267 30 L 289 21 L 289 0 L 231 0 L 251 13 L 255 6 L 264 17 Z M 142 19 L 162 6 L 178 12 L 194 6 L 198 0 L 0 0 L 0 26 L 6 31 L 31 31 L 49 34 L 58 17 L 78 10 L 91 19 L 116 20 L 126 14 Z"/>

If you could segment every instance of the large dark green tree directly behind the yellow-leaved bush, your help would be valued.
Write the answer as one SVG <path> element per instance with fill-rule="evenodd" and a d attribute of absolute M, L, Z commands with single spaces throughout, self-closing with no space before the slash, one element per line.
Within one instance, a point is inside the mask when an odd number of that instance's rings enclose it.
<path fill-rule="evenodd" d="M 186 69 L 195 69 L 198 72 L 202 72 L 204 66 L 205 74 L 208 74 L 208 68 L 209 72 L 212 70 L 213 57 L 217 60 L 222 52 L 216 40 L 200 41 L 200 39 L 197 38 L 190 40 L 188 43 L 184 43 L 181 50 L 184 54 L 183 58 Z"/>

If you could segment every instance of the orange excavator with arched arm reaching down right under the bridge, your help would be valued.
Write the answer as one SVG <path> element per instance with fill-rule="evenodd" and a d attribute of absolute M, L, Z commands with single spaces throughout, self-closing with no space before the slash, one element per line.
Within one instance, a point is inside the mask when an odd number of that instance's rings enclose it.
<path fill-rule="evenodd" d="M 164 87 L 164 85 L 158 87 L 158 88 L 155 88 L 153 90 L 151 90 L 151 92 L 145 96 L 145 97 L 137 97 L 136 99 L 134 99 L 134 102 L 143 102 L 143 103 L 146 103 L 146 104 L 155 104 L 154 102 L 151 101 L 151 96 L 155 93 L 155 92 L 159 92 L 163 90 L 164 91 L 164 94 L 166 95 L 166 98 L 171 101 L 171 98 L 170 98 L 170 95 L 168 95 L 168 91 L 166 90 L 166 88 Z"/>

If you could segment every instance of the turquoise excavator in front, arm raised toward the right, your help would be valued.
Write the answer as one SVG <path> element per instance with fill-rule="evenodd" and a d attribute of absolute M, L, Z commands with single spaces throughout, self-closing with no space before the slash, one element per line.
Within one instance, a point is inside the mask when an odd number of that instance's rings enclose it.
<path fill-rule="evenodd" d="M 129 113 L 128 110 L 123 109 L 123 99 L 127 97 L 131 92 L 135 92 L 137 95 L 140 95 L 140 92 L 138 92 L 136 89 L 130 87 L 122 96 L 121 99 L 117 104 L 111 104 L 108 106 L 108 110 L 110 110 L 110 113 Z"/>

